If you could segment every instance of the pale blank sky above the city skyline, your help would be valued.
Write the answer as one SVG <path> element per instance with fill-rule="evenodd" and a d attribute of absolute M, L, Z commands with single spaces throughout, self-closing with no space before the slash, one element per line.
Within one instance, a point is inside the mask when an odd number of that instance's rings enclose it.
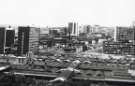
<path fill-rule="evenodd" d="M 0 0 L 0 24 L 129 26 L 135 0 Z"/>

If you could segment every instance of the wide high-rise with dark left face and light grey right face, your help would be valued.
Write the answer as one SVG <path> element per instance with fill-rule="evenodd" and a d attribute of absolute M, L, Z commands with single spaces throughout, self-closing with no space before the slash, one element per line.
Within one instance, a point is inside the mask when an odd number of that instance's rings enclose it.
<path fill-rule="evenodd" d="M 34 53 L 38 49 L 39 32 L 40 29 L 35 27 L 18 28 L 18 55 L 27 54 L 29 51 Z"/>

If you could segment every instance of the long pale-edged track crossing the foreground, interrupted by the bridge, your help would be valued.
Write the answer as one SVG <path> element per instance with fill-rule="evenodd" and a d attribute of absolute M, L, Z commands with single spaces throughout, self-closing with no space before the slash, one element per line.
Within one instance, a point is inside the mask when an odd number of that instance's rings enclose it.
<path fill-rule="evenodd" d="M 49 78 L 54 79 L 59 76 L 58 73 L 49 73 L 49 72 L 40 72 L 40 71 L 30 71 L 30 70 L 12 70 L 5 71 L 5 74 L 15 74 L 23 75 L 28 77 L 40 77 L 40 78 Z M 94 82 L 122 82 L 122 83 L 134 83 L 134 79 L 117 79 L 117 78 L 93 78 L 93 77 L 82 77 L 82 76 L 72 76 L 72 80 L 81 80 L 81 81 L 94 81 Z"/>

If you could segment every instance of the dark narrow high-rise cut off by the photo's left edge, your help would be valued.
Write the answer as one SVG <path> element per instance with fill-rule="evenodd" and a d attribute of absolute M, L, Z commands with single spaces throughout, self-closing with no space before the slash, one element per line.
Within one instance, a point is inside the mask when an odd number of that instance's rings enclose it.
<path fill-rule="evenodd" d="M 6 29 L 5 27 L 0 27 L 0 54 L 4 54 L 5 52 L 5 42 L 6 42 Z"/>

